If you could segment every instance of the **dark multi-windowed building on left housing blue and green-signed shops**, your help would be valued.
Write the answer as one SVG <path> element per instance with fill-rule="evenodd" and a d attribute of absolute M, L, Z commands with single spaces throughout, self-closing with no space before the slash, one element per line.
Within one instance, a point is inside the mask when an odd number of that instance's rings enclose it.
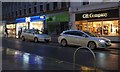
<path fill-rule="evenodd" d="M 3 2 L 2 20 L 9 36 L 17 36 L 21 28 L 59 34 L 68 29 L 68 10 L 68 2 Z"/>

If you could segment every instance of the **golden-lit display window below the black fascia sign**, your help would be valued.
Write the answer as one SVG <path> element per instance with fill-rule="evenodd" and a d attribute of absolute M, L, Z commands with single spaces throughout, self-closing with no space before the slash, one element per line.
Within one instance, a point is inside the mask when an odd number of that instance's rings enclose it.
<path fill-rule="evenodd" d="M 93 21 L 86 22 L 80 21 L 76 22 L 76 27 L 78 30 L 87 30 L 92 33 L 96 33 L 98 35 L 103 36 L 118 36 L 118 20 L 110 20 L 110 21 Z"/>

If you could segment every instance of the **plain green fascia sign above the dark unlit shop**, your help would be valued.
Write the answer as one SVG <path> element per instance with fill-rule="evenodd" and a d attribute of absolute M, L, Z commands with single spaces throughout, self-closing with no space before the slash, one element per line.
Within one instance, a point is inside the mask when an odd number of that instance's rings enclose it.
<path fill-rule="evenodd" d="M 68 12 L 54 14 L 54 15 L 51 15 L 51 16 L 47 16 L 46 20 L 47 20 L 47 22 L 69 21 L 69 14 L 68 14 Z"/>

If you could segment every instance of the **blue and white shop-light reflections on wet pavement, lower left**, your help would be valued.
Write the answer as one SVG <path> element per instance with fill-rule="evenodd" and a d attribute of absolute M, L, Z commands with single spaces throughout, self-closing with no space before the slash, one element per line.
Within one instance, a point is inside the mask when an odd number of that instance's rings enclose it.
<path fill-rule="evenodd" d="M 44 64 L 44 57 L 9 48 L 3 49 L 2 57 L 3 70 L 28 70 L 34 69 L 35 67 L 42 69 L 42 64 Z"/>

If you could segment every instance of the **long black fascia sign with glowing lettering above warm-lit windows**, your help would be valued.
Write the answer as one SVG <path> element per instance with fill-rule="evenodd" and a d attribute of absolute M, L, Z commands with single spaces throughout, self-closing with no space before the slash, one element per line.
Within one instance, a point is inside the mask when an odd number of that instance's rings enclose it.
<path fill-rule="evenodd" d="M 89 20 L 89 19 L 102 19 L 102 18 L 118 18 L 118 17 L 119 17 L 118 9 L 75 14 L 76 21 Z"/>

